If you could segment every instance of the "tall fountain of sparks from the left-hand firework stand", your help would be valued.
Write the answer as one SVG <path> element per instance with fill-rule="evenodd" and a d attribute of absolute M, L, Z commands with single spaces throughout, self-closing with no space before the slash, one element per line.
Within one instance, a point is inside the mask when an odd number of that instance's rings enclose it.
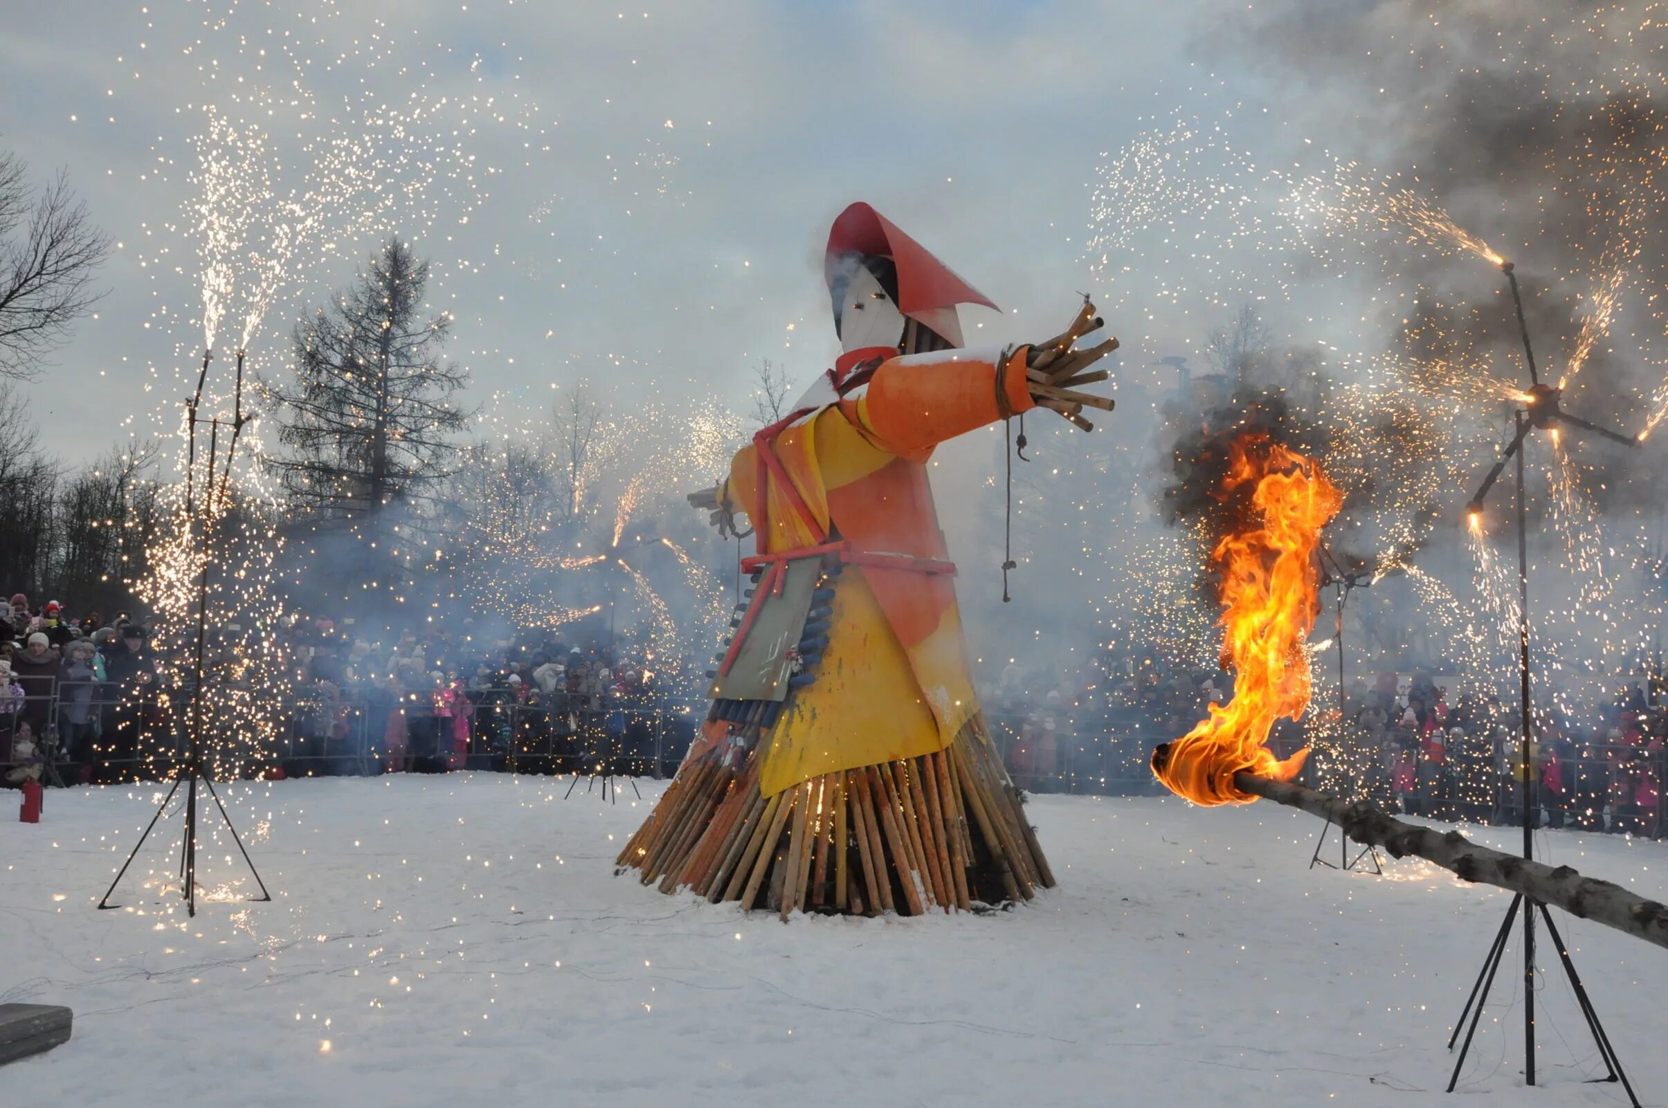
<path fill-rule="evenodd" d="M 292 319 L 320 285 L 339 280 L 345 262 L 357 262 L 389 232 L 422 237 L 469 224 L 489 197 L 487 182 L 505 169 L 487 162 L 477 142 L 487 132 L 542 132 L 537 110 L 519 93 L 500 98 L 479 75 L 475 90 L 460 88 L 450 48 L 422 53 L 409 40 L 397 43 L 377 18 L 355 35 L 335 3 L 302 8 L 208 0 L 163 7 L 147 22 L 147 47 L 177 50 L 193 72 L 180 117 L 195 130 L 183 140 L 193 157 L 182 219 L 147 225 L 137 260 L 157 282 L 158 299 L 177 294 L 178 279 L 195 289 L 200 310 L 192 319 L 163 300 L 145 324 L 173 340 L 163 362 L 173 369 L 152 362 L 150 372 L 162 385 L 158 417 L 178 446 L 175 479 L 162 496 L 167 522 L 148 552 L 148 574 L 133 587 L 152 609 L 162 704 L 180 709 L 172 713 L 180 718 L 190 699 L 197 581 L 205 539 L 212 542 L 202 699 L 203 738 L 219 774 L 237 774 L 272 749 L 299 692 L 279 634 L 294 619 L 275 581 L 285 546 L 277 529 L 282 506 L 264 476 L 259 421 L 242 429 L 225 472 L 237 416 L 235 359 L 217 344 L 232 329 L 235 349 L 247 350 L 242 410 L 259 416 L 262 374 L 284 372 Z M 173 43 L 172 35 L 178 35 Z M 155 167 L 142 180 L 173 187 L 175 149 L 157 142 Z M 437 244 L 450 239 L 434 235 Z M 183 265 L 183 257 L 195 264 Z M 435 260 L 437 274 L 479 269 L 462 257 Z M 195 384 L 202 350 L 214 350 L 214 360 L 197 462 L 187 474 L 188 426 L 178 400 Z M 214 456 L 210 421 L 219 421 Z M 187 482 L 195 489 L 192 504 Z M 172 743 L 157 736 L 152 746 L 167 756 Z"/>

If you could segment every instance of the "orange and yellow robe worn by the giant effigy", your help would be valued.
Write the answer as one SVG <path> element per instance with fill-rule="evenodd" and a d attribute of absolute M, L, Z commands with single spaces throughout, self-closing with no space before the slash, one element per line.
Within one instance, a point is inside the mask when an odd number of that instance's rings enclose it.
<path fill-rule="evenodd" d="M 1034 405 L 1026 352 L 1012 352 L 1001 374 L 1012 414 Z M 947 557 L 926 462 L 939 442 L 1002 419 L 999 357 L 996 350 L 892 357 L 866 387 L 777 434 L 782 471 L 824 536 L 864 554 Z M 796 496 L 761 466 L 757 446 L 736 456 L 721 496 L 759 527 L 761 554 L 822 541 Z M 816 681 L 789 698 L 762 739 L 769 744 L 759 778 L 764 796 L 824 773 L 944 749 L 979 711 L 949 576 L 847 564 L 834 579 L 832 607 Z"/>

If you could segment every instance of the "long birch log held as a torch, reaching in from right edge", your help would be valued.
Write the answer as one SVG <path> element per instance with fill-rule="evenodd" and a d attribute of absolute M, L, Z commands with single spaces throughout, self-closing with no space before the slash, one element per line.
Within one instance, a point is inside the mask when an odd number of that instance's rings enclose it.
<path fill-rule="evenodd" d="M 1583 878 L 1570 866 L 1548 866 L 1518 854 L 1480 846 L 1458 831 L 1436 831 L 1403 823 L 1366 801 L 1341 801 L 1308 786 L 1236 773 L 1234 784 L 1251 793 L 1331 819 L 1363 846 L 1378 846 L 1391 858 L 1413 854 L 1441 866 L 1463 881 L 1523 893 L 1533 901 L 1563 908 L 1623 934 L 1668 948 L 1668 906 L 1630 893 L 1620 884 Z"/>

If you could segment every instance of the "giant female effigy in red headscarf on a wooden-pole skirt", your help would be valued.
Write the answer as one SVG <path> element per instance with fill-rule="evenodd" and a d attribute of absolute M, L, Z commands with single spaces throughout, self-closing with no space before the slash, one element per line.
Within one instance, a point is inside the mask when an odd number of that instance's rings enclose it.
<path fill-rule="evenodd" d="M 927 482 L 934 447 L 1048 407 L 1089 429 L 1081 392 L 1116 339 L 1084 302 L 1056 339 L 964 349 L 956 309 L 994 307 L 867 204 L 829 234 L 842 354 L 714 489 L 746 516 L 752 589 L 712 671 L 711 708 L 619 864 L 744 909 L 971 909 L 1054 884 L 974 694 Z"/>

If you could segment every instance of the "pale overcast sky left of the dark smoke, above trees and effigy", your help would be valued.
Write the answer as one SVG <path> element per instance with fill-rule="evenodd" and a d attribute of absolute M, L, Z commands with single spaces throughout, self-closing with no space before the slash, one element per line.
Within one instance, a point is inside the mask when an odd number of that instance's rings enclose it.
<path fill-rule="evenodd" d="M 802 380 L 836 350 L 819 259 L 859 199 L 1009 310 L 966 310 L 969 342 L 1053 334 L 1088 284 L 1096 167 L 1139 115 L 1219 83 L 1166 5 L 634 3 L 15 5 L 0 145 L 37 177 L 67 169 L 122 244 L 98 317 L 30 389 L 52 446 L 153 434 L 202 347 L 205 105 L 267 132 L 274 192 L 372 108 L 429 105 L 407 140 L 450 144 L 437 169 L 375 189 L 435 262 L 430 300 L 457 315 L 449 352 L 477 404 L 590 377 L 746 405 L 761 357 Z M 344 232 L 355 204 L 284 265 L 250 344 L 265 372 L 369 249 Z"/>

